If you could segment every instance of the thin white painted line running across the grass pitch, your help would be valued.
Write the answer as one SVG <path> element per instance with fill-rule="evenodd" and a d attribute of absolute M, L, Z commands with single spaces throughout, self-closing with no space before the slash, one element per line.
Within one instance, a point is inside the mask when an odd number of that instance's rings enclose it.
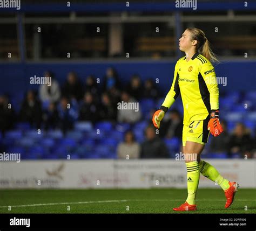
<path fill-rule="evenodd" d="M 183 199 L 151 199 L 151 200 L 98 200 L 98 201 L 79 201 L 79 202 L 58 202 L 58 203 L 47 203 L 47 204 L 32 204 L 32 205 L 6 205 L 0 206 L 0 208 L 11 207 L 33 207 L 33 206 L 48 206 L 48 205 L 74 205 L 74 204 L 97 204 L 97 203 L 112 203 L 112 202 L 128 202 L 128 201 L 183 201 Z M 225 201 L 225 199 L 199 199 L 197 201 Z M 237 199 L 235 201 L 255 201 L 246 199 Z"/>

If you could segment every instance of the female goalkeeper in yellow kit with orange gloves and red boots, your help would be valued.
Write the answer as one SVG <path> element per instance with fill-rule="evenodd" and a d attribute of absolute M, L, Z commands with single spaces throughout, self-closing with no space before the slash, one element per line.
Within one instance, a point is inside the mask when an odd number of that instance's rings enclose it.
<path fill-rule="evenodd" d="M 200 154 L 208 141 L 209 130 L 213 136 L 219 136 L 223 128 L 219 122 L 219 89 L 214 68 L 209 60 L 218 61 L 210 48 L 205 33 L 190 27 L 179 39 L 179 49 L 185 57 L 175 66 L 171 89 L 159 110 L 154 113 L 154 127 L 160 127 L 167 110 L 178 95 L 181 95 L 184 108 L 183 153 L 187 167 L 187 192 L 184 204 L 174 211 L 193 211 L 200 173 L 215 181 L 223 188 L 226 196 L 225 208 L 234 200 L 238 184 L 224 179 L 209 163 L 200 159 Z"/>

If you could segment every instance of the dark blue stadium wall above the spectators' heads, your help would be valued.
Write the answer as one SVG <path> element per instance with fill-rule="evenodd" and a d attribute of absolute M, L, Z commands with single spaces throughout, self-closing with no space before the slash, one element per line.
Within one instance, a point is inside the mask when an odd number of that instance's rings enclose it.
<path fill-rule="evenodd" d="M 0 94 L 16 94 L 28 89 L 37 89 L 38 85 L 30 85 L 30 77 L 43 76 L 46 70 L 55 73 L 57 80 L 63 83 L 70 71 L 75 71 L 82 81 L 89 74 L 95 75 L 103 82 L 107 67 L 116 68 L 120 81 L 127 83 L 132 74 L 139 74 L 143 80 L 159 79 L 159 88 L 165 93 L 170 89 L 175 62 L 172 61 L 104 61 L 104 62 L 72 62 L 72 63 L 2 63 L 0 64 Z M 217 77 L 226 77 L 227 85 L 219 85 L 220 91 L 255 90 L 255 61 L 223 61 L 215 66 Z M 242 84 L 241 84 L 242 81 Z"/>

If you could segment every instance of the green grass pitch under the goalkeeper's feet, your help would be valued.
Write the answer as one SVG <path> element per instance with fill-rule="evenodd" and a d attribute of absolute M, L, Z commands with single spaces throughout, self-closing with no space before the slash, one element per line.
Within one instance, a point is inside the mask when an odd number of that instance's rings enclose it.
<path fill-rule="evenodd" d="M 172 208 L 186 196 L 186 189 L 173 188 L 0 190 L 0 213 L 179 213 Z M 228 209 L 224 208 L 225 201 L 221 189 L 199 188 L 198 210 L 181 213 L 256 213 L 255 189 L 239 189 Z"/>

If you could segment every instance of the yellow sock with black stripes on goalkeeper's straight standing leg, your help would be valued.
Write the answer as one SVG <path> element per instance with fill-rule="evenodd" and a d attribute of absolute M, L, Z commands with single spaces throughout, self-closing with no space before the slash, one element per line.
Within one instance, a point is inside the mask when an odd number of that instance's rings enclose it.
<path fill-rule="evenodd" d="M 200 176 L 198 162 L 197 161 L 188 162 L 186 163 L 186 167 L 187 167 L 187 193 L 188 193 L 186 201 L 188 202 L 188 204 L 194 205 L 198 183 L 199 183 L 199 176 Z"/>

